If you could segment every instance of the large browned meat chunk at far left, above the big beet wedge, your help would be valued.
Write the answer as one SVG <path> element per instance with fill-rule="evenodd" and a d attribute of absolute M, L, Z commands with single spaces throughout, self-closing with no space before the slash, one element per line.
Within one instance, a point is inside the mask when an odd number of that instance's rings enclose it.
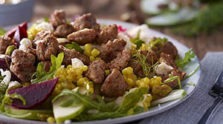
<path fill-rule="evenodd" d="M 14 50 L 12 53 L 10 70 L 22 81 L 29 82 L 35 72 L 35 56 L 22 50 Z"/>

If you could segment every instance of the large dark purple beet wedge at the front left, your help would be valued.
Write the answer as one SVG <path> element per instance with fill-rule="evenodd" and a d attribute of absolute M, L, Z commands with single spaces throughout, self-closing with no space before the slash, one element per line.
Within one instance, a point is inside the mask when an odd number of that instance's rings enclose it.
<path fill-rule="evenodd" d="M 21 100 L 13 99 L 12 106 L 16 108 L 29 109 L 43 103 L 53 92 L 57 81 L 58 78 L 55 78 L 42 83 L 10 90 L 8 92 L 9 94 L 19 94 L 26 100 L 26 105 L 23 105 Z"/>

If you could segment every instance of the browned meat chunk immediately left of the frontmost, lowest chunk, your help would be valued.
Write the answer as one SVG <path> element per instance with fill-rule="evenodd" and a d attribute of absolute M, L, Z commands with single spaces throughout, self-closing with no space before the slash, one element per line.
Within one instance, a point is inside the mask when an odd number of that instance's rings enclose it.
<path fill-rule="evenodd" d="M 95 60 L 90 64 L 86 76 L 94 83 L 100 84 L 105 78 L 105 67 L 106 64 L 103 60 Z"/>

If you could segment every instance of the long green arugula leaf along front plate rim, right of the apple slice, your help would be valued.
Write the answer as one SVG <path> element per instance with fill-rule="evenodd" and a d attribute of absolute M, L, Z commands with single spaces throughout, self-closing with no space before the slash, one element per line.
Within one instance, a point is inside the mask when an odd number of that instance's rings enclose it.
<path fill-rule="evenodd" d="M 85 111 L 79 116 L 77 116 L 75 119 L 79 121 L 99 120 L 106 118 L 122 117 L 142 112 L 142 107 L 139 107 L 137 103 L 142 99 L 143 94 L 146 93 L 148 93 L 147 88 L 131 89 L 124 95 L 122 103 L 120 104 L 120 106 L 118 106 L 115 111 L 98 111 L 94 114 L 87 113 Z"/>

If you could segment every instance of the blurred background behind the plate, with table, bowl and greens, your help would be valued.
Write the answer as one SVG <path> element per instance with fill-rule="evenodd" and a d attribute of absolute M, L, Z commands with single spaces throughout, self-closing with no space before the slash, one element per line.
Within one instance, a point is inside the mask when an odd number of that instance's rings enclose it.
<path fill-rule="evenodd" d="M 14 9 L 18 13 L 5 14 L 21 3 L 26 6 Z M 15 23 L 32 22 L 49 17 L 55 9 L 65 10 L 69 18 L 91 12 L 101 19 L 148 24 L 192 48 L 199 58 L 207 51 L 223 51 L 222 0 L 0 0 L 0 26 L 9 25 L 2 24 L 6 15 Z"/>

